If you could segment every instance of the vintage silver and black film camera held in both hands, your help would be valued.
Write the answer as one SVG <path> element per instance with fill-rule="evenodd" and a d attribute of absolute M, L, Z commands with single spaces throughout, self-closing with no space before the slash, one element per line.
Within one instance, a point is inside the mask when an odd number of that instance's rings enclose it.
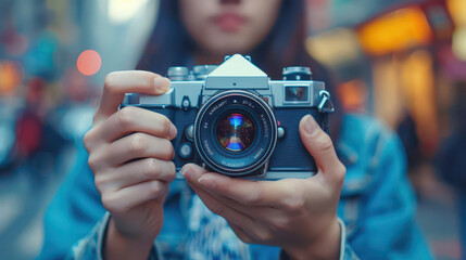
<path fill-rule="evenodd" d="M 194 162 L 229 177 L 308 178 L 317 167 L 301 142 L 299 122 L 310 114 L 328 131 L 333 106 L 308 67 L 286 67 L 282 76 L 270 80 L 249 56 L 235 54 L 221 65 L 171 67 L 168 91 L 126 94 L 121 107 L 147 108 L 172 120 L 178 129 L 172 141 L 177 177 Z"/>

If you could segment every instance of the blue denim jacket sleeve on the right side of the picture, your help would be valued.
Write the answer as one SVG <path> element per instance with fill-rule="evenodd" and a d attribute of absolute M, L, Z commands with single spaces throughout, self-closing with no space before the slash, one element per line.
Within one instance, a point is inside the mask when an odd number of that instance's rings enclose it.
<path fill-rule="evenodd" d="M 361 259 L 431 259 L 415 223 L 416 200 L 400 140 L 381 129 L 373 143 L 370 184 L 360 198 L 360 227 L 348 243 Z"/>

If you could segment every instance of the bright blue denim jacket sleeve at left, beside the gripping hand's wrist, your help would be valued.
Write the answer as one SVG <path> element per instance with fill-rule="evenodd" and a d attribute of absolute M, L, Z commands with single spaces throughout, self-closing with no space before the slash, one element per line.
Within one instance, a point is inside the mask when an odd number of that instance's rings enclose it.
<path fill-rule="evenodd" d="M 86 237 L 104 216 L 87 158 L 88 154 L 80 145 L 75 166 L 47 208 L 45 242 L 37 259 L 65 258 L 72 245 Z"/>

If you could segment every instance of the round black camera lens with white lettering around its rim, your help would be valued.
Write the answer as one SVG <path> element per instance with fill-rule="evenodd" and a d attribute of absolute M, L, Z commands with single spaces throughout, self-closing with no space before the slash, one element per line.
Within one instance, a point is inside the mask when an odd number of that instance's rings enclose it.
<path fill-rule="evenodd" d="M 209 99 L 194 120 L 194 146 L 209 168 L 227 176 L 261 169 L 277 143 L 270 106 L 249 91 L 228 90 Z"/>

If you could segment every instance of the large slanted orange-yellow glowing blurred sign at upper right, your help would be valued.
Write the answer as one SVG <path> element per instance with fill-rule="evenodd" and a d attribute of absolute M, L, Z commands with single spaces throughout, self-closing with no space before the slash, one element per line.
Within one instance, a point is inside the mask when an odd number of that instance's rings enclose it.
<path fill-rule="evenodd" d="M 385 14 L 363 25 L 357 32 L 363 49 L 373 55 L 428 46 L 433 39 L 427 17 L 418 8 Z"/>

